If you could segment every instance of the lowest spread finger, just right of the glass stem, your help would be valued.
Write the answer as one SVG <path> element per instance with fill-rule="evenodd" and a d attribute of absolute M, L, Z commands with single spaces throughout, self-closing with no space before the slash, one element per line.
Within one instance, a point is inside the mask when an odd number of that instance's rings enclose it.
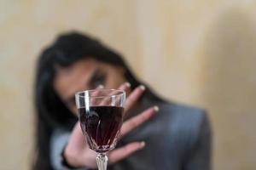
<path fill-rule="evenodd" d="M 108 162 L 113 164 L 120 161 L 125 157 L 130 156 L 135 151 L 143 149 L 144 146 L 145 142 L 133 142 L 131 144 L 126 144 L 119 149 L 112 150 L 108 154 Z"/>

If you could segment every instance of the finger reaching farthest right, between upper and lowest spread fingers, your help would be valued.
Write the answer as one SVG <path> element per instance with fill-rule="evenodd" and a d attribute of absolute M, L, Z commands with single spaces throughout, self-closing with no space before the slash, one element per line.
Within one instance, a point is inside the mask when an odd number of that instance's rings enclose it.
<path fill-rule="evenodd" d="M 131 132 L 131 130 L 133 130 L 134 128 L 143 124 L 143 122 L 146 122 L 149 118 L 154 116 L 154 114 L 158 111 L 159 111 L 159 107 L 154 106 L 154 107 L 149 108 L 146 111 L 143 111 L 143 113 L 141 113 L 137 116 L 134 116 L 131 119 L 129 119 L 128 121 L 124 122 L 123 126 L 121 127 L 119 137 L 121 138 L 121 137 L 125 136 L 125 134 Z"/>

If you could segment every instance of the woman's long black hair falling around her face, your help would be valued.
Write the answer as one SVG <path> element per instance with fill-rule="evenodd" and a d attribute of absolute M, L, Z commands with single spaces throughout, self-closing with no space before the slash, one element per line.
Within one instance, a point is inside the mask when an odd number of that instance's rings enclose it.
<path fill-rule="evenodd" d="M 55 127 L 71 130 L 77 118 L 73 116 L 67 106 L 55 93 L 53 81 L 56 65 L 67 67 L 75 61 L 84 58 L 93 58 L 110 65 L 119 65 L 125 68 L 125 79 L 131 83 L 131 89 L 141 82 L 132 74 L 121 55 L 103 45 L 92 37 L 79 32 L 69 32 L 56 38 L 55 42 L 45 48 L 40 54 L 35 81 L 36 116 L 36 153 L 33 162 L 34 170 L 51 170 L 49 160 L 49 139 Z M 154 100 L 160 100 L 148 88 L 144 95 Z"/>

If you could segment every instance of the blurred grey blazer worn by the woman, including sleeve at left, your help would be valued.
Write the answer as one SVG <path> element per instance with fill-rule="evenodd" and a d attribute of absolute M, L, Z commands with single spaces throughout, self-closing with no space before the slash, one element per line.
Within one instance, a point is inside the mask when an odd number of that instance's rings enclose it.
<path fill-rule="evenodd" d="M 159 113 L 120 139 L 117 145 L 145 141 L 145 148 L 109 166 L 108 170 L 210 170 L 211 128 L 205 111 L 143 99 L 137 113 L 151 105 L 158 105 Z M 69 133 L 56 129 L 52 135 L 50 157 L 56 170 L 67 169 L 61 165 L 61 151 Z"/>

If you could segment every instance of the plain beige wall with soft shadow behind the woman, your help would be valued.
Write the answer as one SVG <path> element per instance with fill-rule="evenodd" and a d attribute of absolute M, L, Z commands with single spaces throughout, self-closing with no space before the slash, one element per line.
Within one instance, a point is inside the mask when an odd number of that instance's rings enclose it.
<path fill-rule="evenodd" d="M 74 29 L 125 54 L 159 94 L 207 108 L 214 169 L 255 169 L 255 7 L 253 0 L 0 0 L 0 169 L 28 168 L 35 61 L 57 33 Z"/>

